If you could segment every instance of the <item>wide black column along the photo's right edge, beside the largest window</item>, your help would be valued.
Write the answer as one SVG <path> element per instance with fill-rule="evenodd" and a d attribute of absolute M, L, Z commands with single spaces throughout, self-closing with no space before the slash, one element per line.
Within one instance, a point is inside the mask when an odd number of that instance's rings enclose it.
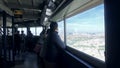
<path fill-rule="evenodd" d="M 104 0 L 105 55 L 107 68 L 120 68 L 120 3 Z"/>

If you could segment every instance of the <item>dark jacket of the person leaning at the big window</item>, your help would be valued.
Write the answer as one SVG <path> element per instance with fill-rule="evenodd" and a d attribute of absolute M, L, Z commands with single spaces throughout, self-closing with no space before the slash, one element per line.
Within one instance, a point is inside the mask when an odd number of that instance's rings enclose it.
<path fill-rule="evenodd" d="M 56 31 L 49 33 L 47 43 L 46 60 L 49 62 L 56 62 L 60 56 L 60 51 L 64 50 L 66 46 Z"/>

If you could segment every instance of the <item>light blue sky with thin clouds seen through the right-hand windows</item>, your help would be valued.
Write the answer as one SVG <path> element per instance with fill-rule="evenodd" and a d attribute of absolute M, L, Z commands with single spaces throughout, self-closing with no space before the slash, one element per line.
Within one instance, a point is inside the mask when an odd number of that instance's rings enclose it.
<path fill-rule="evenodd" d="M 67 32 L 104 32 L 104 5 L 89 9 L 66 19 Z M 59 23 L 60 30 L 63 29 Z"/>

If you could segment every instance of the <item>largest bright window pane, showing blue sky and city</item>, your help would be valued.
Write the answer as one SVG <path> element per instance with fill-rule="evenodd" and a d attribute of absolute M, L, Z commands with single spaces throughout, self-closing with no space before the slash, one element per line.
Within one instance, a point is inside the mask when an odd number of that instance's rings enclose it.
<path fill-rule="evenodd" d="M 104 59 L 104 5 L 99 5 L 66 20 L 67 45 Z"/>

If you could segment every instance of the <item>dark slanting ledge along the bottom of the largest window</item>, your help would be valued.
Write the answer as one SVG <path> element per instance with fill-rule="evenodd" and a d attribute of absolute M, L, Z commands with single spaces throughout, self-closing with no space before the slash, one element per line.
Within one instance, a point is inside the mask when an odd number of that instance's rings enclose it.
<path fill-rule="evenodd" d="M 78 51 L 74 48 L 71 48 L 69 46 L 67 46 L 66 51 L 70 52 L 71 54 L 75 55 L 76 57 L 78 57 L 79 59 L 82 59 L 84 61 L 86 61 L 87 63 L 89 63 L 90 65 L 97 67 L 97 68 L 106 68 L 105 62 L 97 59 L 93 56 L 90 56 L 86 53 L 83 53 L 81 51 Z"/>

